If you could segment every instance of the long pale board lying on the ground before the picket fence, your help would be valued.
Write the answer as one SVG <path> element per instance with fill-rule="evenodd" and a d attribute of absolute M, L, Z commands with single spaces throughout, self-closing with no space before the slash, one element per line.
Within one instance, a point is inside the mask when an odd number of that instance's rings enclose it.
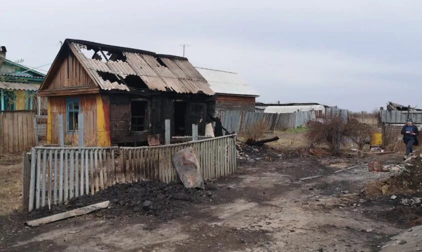
<path fill-rule="evenodd" d="M 31 227 L 36 227 L 36 226 L 39 226 L 39 225 L 43 225 L 43 224 L 67 219 L 67 218 L 74 217 L 74 216 L 85 215 L 85 214 L 88 214 L 88 213 L 93 212 L 95 210 L 108 208 L 109 204 L 110 204 L 109 201 L 104 201 L 104 202 L 97 203 L 97 204 L 90 205 L 90 206 L 86 206 L 86 207 L 83 207 L 83 208 L 78 208 L 78 209 L 70 210 L 70 211 L 67 211 L 67 212 L 64 212 L 64 213 L 60 213 L 60 214 L 40 218 L 40 219 L 37 219 L 37 220 L 29 221 L 29 222 L 26 222 L 26 224 L 28 226 L 31 226 Z"/>

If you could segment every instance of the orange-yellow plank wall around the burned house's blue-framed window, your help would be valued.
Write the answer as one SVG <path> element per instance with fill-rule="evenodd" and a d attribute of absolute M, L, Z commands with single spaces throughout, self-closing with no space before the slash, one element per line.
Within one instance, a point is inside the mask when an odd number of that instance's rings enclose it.
<path fill-rule="evenodd" d="M 63 115 L 63 130 L 65 144 L 77 145 L 77 134 L 66 134 L 66 98 L 79 98 L 80 113 L 84 116 L 84 144 L 85 146 L 97 145 L 97 101 L 96 95 L 80 96 L 55 96 L 48 97 L 49 110 L 47 131 L 51 131 L 51 144 L 58 144 L 57 115 Z"/>

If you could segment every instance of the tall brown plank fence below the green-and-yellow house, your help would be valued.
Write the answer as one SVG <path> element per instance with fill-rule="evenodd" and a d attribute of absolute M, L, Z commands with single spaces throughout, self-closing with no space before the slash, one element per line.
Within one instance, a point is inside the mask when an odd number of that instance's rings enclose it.
<path fill-rule="evenodd" d="M 26 150 L 35 145 L 35 111 L 0 111 L 0 154 Z"/>

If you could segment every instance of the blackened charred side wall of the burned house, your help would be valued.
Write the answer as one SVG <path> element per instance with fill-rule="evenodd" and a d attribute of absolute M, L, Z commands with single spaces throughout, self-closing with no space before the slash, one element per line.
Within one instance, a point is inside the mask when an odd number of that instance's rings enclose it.
<path fill-rule="evenodd" d="M 148 128 L 143 132 L 131 130 L 131 102 L 132 100 L 145 100 L 148 102 L 147 121 Z M 192 134 L 193 123 L 198 124 L 199 134 L 205 134 L 207 115 L 214 114 L 215 107 L 209 96 L 201 95 L 180 95 L 180 94 L 146 94 L 146 95 L 109 95 L 110 100 L 110 137 L 111 144 L 136 143 L 144 144 L 147 136 L 160 134 L 164 140 L 164 121 L 170 120 L 171 136 L 174 135 L 175 101 L 186 103 L 185 135 Z M 201 111 L 193 111 L 194 105 L 201 105 Z"/>

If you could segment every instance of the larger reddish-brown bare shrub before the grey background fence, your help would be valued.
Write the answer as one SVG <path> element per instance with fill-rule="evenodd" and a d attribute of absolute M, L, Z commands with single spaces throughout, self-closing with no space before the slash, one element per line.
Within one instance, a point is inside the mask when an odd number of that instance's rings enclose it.
<path fill-rule="evenodd" d="M 346 123 L 339 116 L 324 116 L 308 122 L 307 137 L 312 144 L 327 144 L 332 154 L 339 154 L 338 143 L 348 135 Z M 340 132 L 339 132 L 340 131 Z"/>

